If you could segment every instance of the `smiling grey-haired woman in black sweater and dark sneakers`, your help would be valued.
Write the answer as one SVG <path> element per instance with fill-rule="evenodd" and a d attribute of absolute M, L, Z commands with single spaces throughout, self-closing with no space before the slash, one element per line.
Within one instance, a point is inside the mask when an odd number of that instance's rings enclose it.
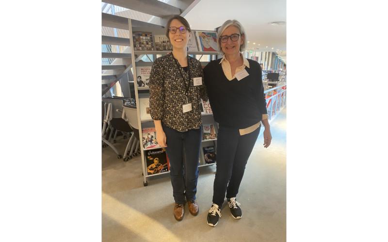
<path fill-rule="evenodd" d="M 232 216 L 242 217 L 236 196 L 261 123 L 265 128 L 265 148 L 272 139 L 261 67 L 241 54 L 246 34 L 240 22 L 227 20 L 217 32 L 217 43 L 224 57 L 210 61 L 204 69 L 210 106 L 214 120 L 219 123 L 213 204 L 207 217 L 210 226 L 216 226 L 221 217 L 225 194 Z"/>

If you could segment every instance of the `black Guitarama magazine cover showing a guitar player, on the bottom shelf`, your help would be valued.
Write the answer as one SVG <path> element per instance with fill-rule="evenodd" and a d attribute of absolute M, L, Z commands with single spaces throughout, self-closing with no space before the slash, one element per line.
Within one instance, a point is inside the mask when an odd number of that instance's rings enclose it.
<path fill-rule="evenodd" d="M 168 171 L 166 150 L 164 148 L 146 152 L 147 174 L 157 174 Z"/>

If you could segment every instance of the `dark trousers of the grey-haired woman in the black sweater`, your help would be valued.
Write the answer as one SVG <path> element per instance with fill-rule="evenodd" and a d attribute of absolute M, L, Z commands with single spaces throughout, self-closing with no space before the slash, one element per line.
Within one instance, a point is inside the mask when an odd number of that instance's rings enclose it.
<path fill-rule="evenodd" d="M 240 136 L 238 129 L 220 126 L 217 138 L 217 171 L 213 185 L 213 203 L 220 208 L 226 198 L 239 192 L 245 165 L 258 139 L 260 127 Z"/>

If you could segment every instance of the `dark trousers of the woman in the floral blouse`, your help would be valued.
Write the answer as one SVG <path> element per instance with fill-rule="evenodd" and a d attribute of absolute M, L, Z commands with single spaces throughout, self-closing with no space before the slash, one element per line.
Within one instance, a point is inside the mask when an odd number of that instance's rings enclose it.
<path fill-rule="evenodd" d="M 175 202 L 183 204 L 184 197 L 187 200 L 195 200 L 202 126 L 186 132 L 178 132 L 164 124 L 162 127 L 166 134 L 166 152 L 170 160 L 170 176 Z"/>

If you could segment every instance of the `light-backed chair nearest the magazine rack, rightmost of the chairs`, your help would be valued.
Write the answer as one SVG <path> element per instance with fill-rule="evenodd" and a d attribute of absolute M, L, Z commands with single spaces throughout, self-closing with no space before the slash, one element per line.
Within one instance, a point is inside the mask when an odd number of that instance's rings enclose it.
<path fill-rule="evenodd" d="M 127 104 L 127 105 L 123 105 L 122 107 L 123 107 L 123 111 L 124 111 L 122 118 L 123 118 L 123 120 L 128 122 L 129 126 L 133 130 L 133 134 L 130 137 L 130 139 L 136 139 L 136 141 L 133 142 L 133 145 L 132 145 L 131 150 L 129 152 L 129 159 L 130 159 L 130 158 L 132 158 L 132 156 L 136 156 L 137 154 L 140 154 L 140 150 L 139 150 L 139 148 L 140 148 L 139 122 L 137 121 L 136 106 Z M 128 150 L 129 150 L 129 143 L 128 143 L 125 154 L 127 154 Z"/>

